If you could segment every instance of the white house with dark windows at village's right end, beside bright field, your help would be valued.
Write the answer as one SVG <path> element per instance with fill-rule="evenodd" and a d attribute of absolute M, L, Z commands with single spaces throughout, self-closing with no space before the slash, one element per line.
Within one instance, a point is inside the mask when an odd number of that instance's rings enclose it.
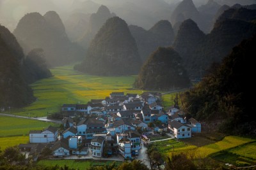
<path fill-rule="evenodd" d="M 168 128 L 177 139 L 191 138 L 191 128 L 188 125 L 173 120 L 168 122 Z"/>

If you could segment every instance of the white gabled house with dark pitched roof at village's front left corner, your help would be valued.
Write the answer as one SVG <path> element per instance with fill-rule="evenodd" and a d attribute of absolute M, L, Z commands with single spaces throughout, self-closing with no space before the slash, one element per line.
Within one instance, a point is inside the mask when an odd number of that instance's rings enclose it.
<path fill-rule="evenodd" d="M 55 157 L 63 157 L 69 156 L 69 147 L 67 139 L 61 139 L 60 141 L 56 141 L 51 148 L 52 153 Z"/>

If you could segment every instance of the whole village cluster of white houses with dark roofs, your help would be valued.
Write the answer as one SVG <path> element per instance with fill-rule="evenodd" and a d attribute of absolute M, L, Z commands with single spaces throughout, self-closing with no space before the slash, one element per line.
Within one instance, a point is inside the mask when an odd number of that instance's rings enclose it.
<path fill-rule="evenodd" d="M 164 112 L 161 94 L 144 92 L 124 94 L 113 92 L 106 99 L 92 99 L 88 104 L 63 104 L 61 112 L 64 131 L 48 127 L 29 132 L 29 144 L 20 149 L 39 154 L 48 146 L 56 157 L 88 155 L 107 157 L 120 154 L 124 158 L 138 155 L 142 146 L 141 134 L 148 131 L 148 123 L 161 122 L 154 131 L 170 131 L 175 138 L 191 138 L 191 133 L 201 132 L 194 118 L 186 119 L 182 110 L 172 107 Z M 72 117 L 80 117 L 74 122 Z"/>

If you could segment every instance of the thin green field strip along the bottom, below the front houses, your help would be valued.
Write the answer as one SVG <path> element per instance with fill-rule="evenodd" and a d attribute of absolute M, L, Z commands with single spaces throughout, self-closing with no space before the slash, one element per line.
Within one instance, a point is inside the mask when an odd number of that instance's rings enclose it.
<path fill-rule="evenodd" d="M 69 168 L 84 170 L 90 166 L 104 166 L 106 164 L 112 164 L 113 161 L 93 161 L 93 160 L 40 160 L 38 166 L 60 166 L 64 167 L 65 165 Z M 116 162 L 116 165 L 120 162 Z"/>

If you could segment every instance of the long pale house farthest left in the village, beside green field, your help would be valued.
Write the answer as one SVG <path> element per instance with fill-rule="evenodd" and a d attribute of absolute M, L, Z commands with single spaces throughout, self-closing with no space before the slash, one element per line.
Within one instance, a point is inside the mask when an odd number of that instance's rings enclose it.
<path fill-rule="evenodd" d="M 44 131 L 29 131 L 30 143 L 49 143 L 58 138 L 58 129 L 51 125 Z"/>

